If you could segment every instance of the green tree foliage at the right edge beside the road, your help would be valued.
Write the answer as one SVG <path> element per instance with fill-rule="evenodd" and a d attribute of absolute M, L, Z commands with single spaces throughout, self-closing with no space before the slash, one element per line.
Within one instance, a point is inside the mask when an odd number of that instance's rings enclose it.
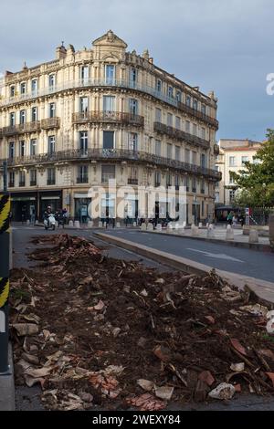
<path fill-rule="evenodd" d="M 238 206 L 274 206 L 274 130 L 268 130 L 267 138 L 254 158 L 255 163 L 246 162 L 244 170 L 230 172 L 238 188 Z"/>

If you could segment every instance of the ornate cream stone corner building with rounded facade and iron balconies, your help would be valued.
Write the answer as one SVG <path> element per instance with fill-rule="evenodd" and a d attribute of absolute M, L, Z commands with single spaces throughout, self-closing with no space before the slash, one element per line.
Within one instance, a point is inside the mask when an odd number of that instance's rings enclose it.
<path fill-rule="evenodd" d="M 214 215 L 217 100 L 142 56 L 111 30 L 91 49 L 56 49 L 56 59 L 0 81 L 0 158 L 7 160 L 15 220 L 47 205 L 87 222 L 90 186 L 185 186 L 186 220 Z M 3 186 L 3 173 L 0 178 Z M 112 216 L 115 195 L 100 201 Z"/>

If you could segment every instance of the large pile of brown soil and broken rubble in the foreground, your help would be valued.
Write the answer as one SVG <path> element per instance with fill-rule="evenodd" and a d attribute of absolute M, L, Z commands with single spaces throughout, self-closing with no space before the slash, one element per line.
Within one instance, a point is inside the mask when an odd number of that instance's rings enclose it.
<path fill-rule="evenodd" d="M 16 383 L 38 383 L 47 409 L 273 394 L 269 310 L 215 271 L 159 273 L 68 235 L 33 242 L 39 264 L 12 272 L 11 329 Z"/>

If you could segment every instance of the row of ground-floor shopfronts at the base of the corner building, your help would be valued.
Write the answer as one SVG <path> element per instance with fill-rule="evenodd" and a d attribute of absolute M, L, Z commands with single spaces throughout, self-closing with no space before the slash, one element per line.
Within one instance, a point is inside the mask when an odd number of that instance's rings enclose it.
<path fill-rule="evenodd" d="M 66 208 L 68 218 L 79 220 L 82 224 L 87 224 L 89 220 L 106 219 L 132 224 L 138 218 L 165 218 L 197 225 L 213 220 L 209 198 L 189 195 L 180 205 L 176 194 L 172 197 L 157 194 L 152 197 L 150 192 L 138 194 L 138 190 L 121 194 L 119 188 L 99 194 L 89 194 L 82 189 L 12 192 L 11 202 L 12 218 L 16 222 L 41 221 L 49 205 L 53 212 Z"/>

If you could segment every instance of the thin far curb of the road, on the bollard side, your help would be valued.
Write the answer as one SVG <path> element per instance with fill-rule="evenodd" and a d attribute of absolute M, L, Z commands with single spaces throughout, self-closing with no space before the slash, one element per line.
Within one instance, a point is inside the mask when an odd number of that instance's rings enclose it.
<path fill-rule="evenodd" d="M 192 240 L 201 240 L 206 241 L 208 243 L 217 243 L 219 245 L 224 246 L 233 246 L 233 247 L 242 247 L 247 248 L 251 250 L 259 250 L 261 252 L 273 252 L 273 249 L 270 245 L 264 245 L 263 243 L 242 243 L 240 241 L 226 241 L 226 240 L 219 240 L 217 238 L 206 238 L 206 237 L 199 237 L 199 236 L 191 236 L 191 235 L 177 235 L 173 233 L 166 233 L 166 232 L 158 232 L 158 231 L 140 231 L 141 233 L 145 234 L 159 234 L 159 235 L 169 235 L 179 238 L 190 238 Z"/>

